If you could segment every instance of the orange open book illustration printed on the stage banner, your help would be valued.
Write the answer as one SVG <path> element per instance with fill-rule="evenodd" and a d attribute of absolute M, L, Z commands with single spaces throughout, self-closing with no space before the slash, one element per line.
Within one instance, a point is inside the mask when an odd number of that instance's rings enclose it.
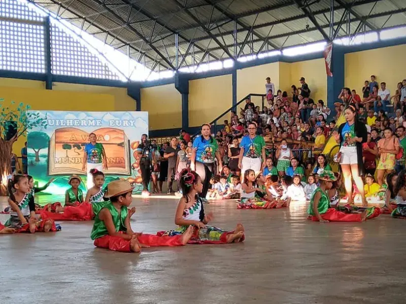
<path fill-rule="evenodd" d="M 129 139 L 125 132 L 115 128 L 94 130 L 97 142 L 103 144 L 107 157 L 108 175 L 131 175 Z M 50 137 L 49 175 L 86 174 L 82 170 L 84 146 L 89 133 L 77 128 L 60 128 Z"/>

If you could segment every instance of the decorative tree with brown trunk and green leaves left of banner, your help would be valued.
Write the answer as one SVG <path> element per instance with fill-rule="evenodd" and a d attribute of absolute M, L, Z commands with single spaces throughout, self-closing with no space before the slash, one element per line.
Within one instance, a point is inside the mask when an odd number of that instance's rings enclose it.
<path fill-rule="evenodd" d="M 14 101 L 11 102 L 15 104 Z M 11 153 L 13 144 L 20 136 L 26 136 L 27 130 L 37 126 L 47 127 L 47 121 L 40 118 L 38 112 L 27 112 L 29 105 L 20 103 L 17 108 L 5 106 L 4 99 L 0 99 L 0 195 L 7 195 L 7 175 L 11 174 Z M 16 129 L 13 137 L 6 136 L 12 128 Z"/>

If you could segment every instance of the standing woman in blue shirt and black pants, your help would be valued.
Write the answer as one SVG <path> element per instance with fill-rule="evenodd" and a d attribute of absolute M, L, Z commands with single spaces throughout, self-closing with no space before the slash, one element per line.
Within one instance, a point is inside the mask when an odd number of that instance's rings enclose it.
<path fill-rule="evenodd" d="M 203 183 L 201 198 L 206 200 L 207 191 L 210 185 L 210 178 L 215 172 L 215 158 L 218 161 L 218 172 L 223 170 L 217 140 L 211 135 L 210 125 L 201 126 L 201 135 L 193 141 L 192 156 L 190 158 L 190 169 L 196 171 Z"/>

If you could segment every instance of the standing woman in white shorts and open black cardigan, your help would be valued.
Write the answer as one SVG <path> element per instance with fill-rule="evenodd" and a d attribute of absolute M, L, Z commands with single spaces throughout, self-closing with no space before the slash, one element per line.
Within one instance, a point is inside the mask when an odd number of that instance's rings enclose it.
<path fill-rule="evenodd" d="M 340 147 L 340 165 L 343 170 L 344 184 L 346 187 L 348 203 L 353 204 L 352 197 L 352 179 L 357 185 L 361 194 L 362 205 L 367 202 L 364 195 L 364 165 L 362 162 L 362 143 L 366 142 L 367 131 L 365 125 L 358 120 L 355 104 L 351 103 L 344 111 L 346 123 L 339 127 L 339 131 L 334 131 L 335 141 L 341 144 Z"/>

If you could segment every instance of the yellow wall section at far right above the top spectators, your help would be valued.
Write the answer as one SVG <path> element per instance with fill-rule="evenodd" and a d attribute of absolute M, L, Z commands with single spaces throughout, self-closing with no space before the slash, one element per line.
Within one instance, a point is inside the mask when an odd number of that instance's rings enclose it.
<path fill-rule="evenodd" d="M 345 86 L 362 96 L 365 80 L 376 75 L 377 82 L 385 82 L 394 95 L 397 83 L 406 78 L 401 68 L 405 53 L 406 45 L 399 45 L 345 54 Z"/>

